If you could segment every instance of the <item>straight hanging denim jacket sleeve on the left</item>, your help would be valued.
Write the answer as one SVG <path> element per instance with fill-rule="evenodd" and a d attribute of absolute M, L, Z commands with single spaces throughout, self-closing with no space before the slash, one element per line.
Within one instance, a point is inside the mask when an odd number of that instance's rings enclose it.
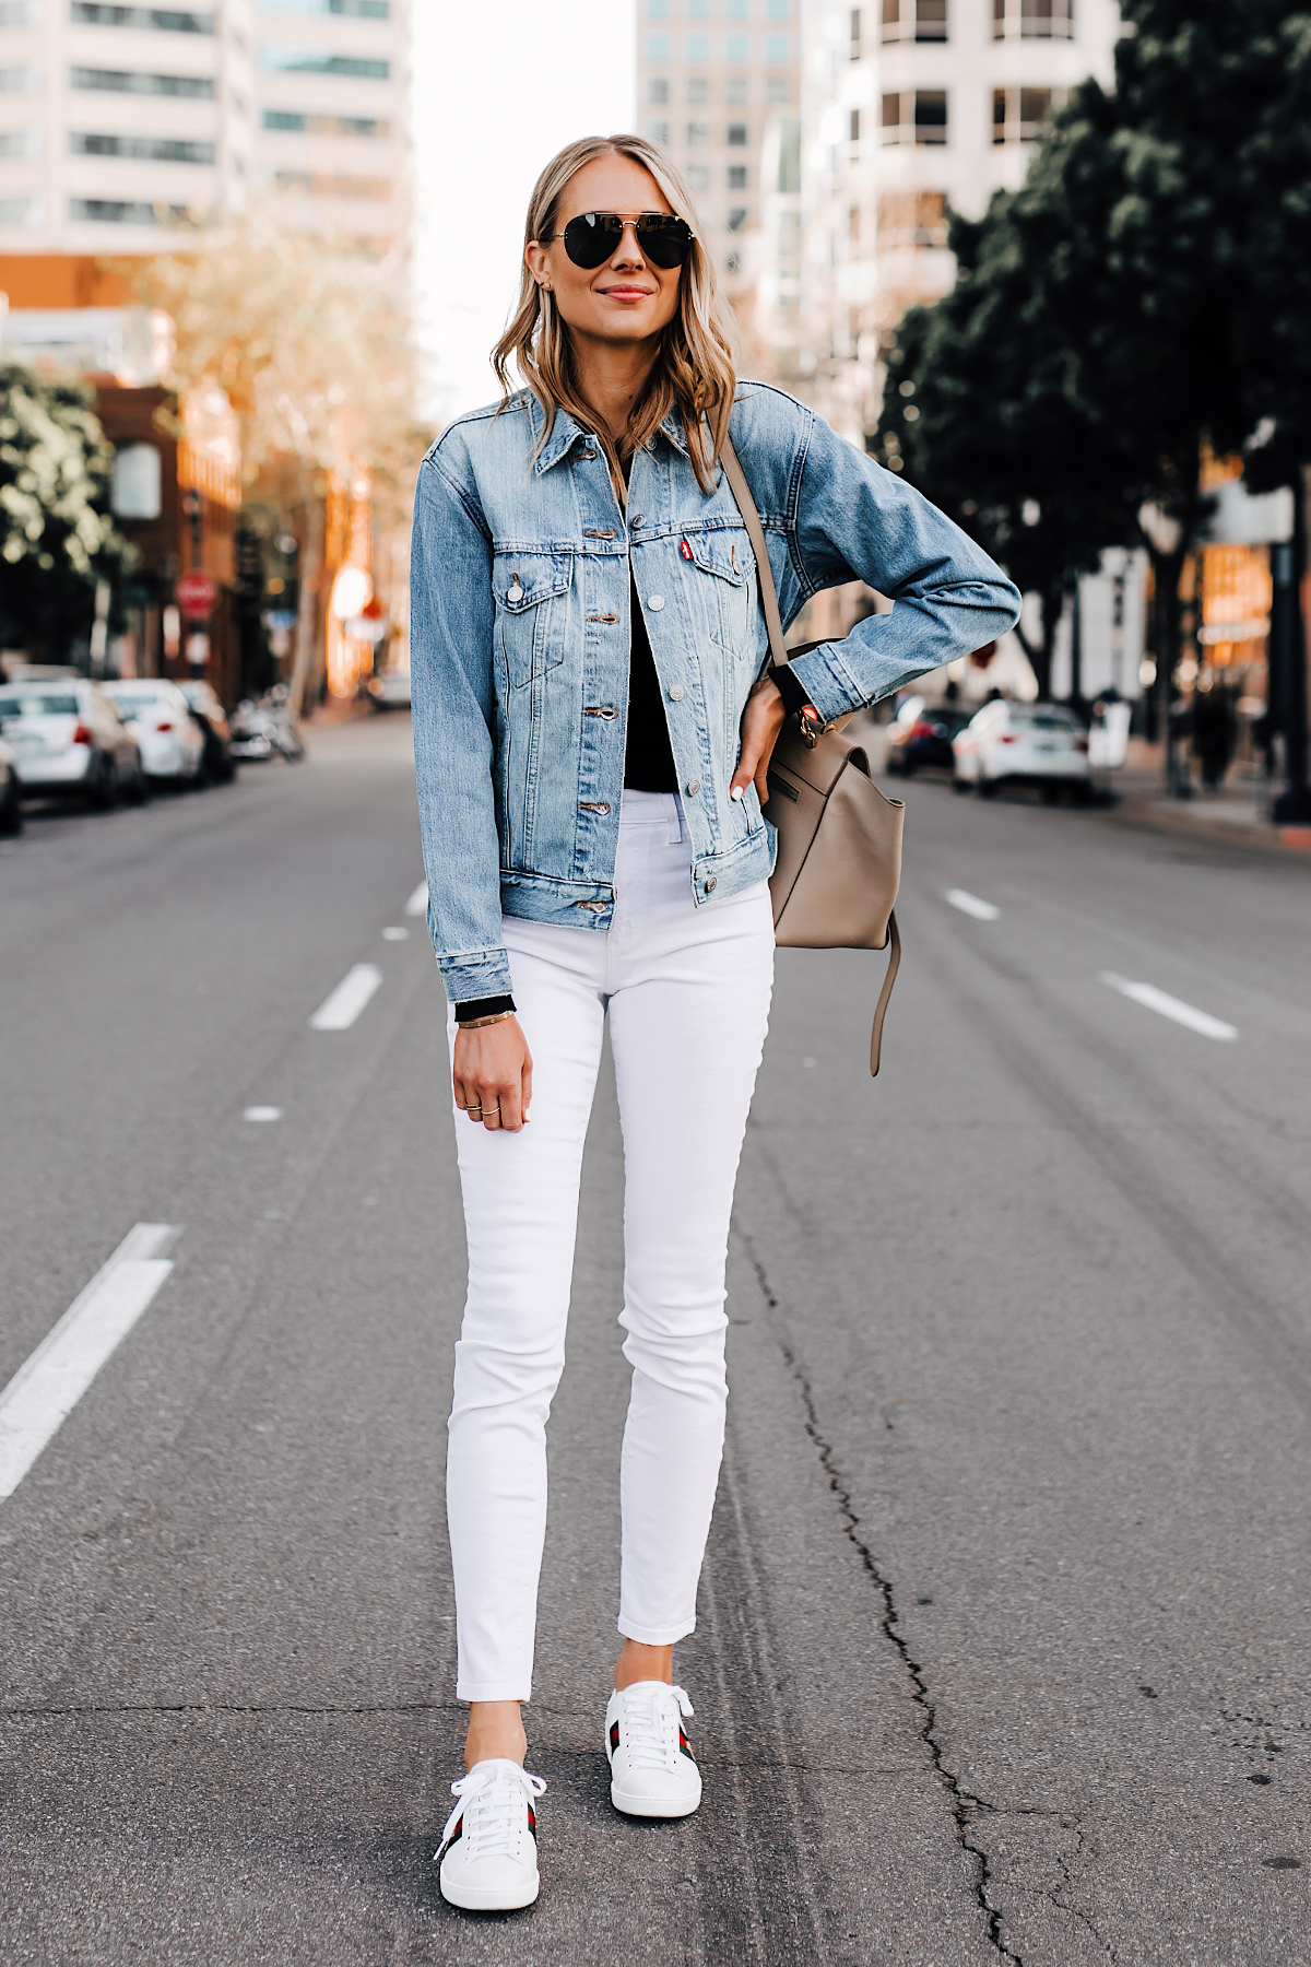
<path fill-rule="evenodd" d="M 491 535 L 434 452 L 419 468 L 411 549 L 411 692 L 428 936 L 452 1003 L 509 991 L 491 781 Z"/>

